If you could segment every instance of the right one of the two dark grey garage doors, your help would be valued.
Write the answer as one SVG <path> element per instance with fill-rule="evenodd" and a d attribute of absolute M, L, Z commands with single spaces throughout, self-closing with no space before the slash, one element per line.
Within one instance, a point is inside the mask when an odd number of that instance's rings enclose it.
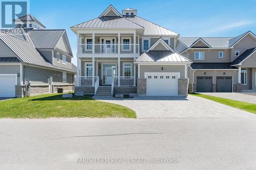
<path fill-rule="evenodd" d="M 232 92 L 232 82 L 231 76 L 216 77 L 216 92 Z"/>

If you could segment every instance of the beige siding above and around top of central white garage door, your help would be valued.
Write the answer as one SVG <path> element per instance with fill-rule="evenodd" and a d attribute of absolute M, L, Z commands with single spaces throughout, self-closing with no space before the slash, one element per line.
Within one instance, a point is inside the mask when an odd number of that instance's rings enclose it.
<path fill-rule="evenodd" d="M 144 78 L 145 72 L 180 72 L 180 78 L 185 78 L 184 65 L 140 65 L 140 78 Z"/>

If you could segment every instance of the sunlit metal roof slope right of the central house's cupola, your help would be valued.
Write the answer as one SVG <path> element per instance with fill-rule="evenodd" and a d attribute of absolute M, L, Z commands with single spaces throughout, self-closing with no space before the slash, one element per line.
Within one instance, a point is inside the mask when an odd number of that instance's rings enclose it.
<path fill-rule="evenodd" d="M 144 27 L 144 35 L 166 35 L 166 36 L 174 36 L 179 35 L 175 32 L 169 31 L 161 26 L 156 25 L 155 23 L 148 21 L 146 19 L 143 19 L 139 16 L 127 16 L 125 17 L 138 25 Z"/>

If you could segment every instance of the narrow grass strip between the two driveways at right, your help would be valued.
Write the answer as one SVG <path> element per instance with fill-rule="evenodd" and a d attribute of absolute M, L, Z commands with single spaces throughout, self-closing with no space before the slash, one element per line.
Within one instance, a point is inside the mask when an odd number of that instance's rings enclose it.
<path fill-rule="evenodd" d="M 224 99 L 224 98 L 218 98 L 215 96 L 210 96 L 210 95 L 205 95 L 205 94 L 200 94 L 200 93 L 193 93 L 190 95 L 194 95 L 194 96 L 198 96 L 204 99 L 208 99 L 211 101 L 215 101 L 227 106 L 231 106 L 234 108 L 238 108 L 247 112 L 251 112 L 256 114 L 256 105 L 255 104 L 251 104 L 251 103 L 247 103 L 247 102 L 240 102 L 240 101 L 234 101 L 234 100 L 230 100 L 230 99 Z"/>

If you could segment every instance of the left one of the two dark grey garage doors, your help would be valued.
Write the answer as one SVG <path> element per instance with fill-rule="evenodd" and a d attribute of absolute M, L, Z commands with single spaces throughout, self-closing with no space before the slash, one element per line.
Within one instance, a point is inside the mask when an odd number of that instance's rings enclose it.
<path fill-rule="evenodd" d="M 212 92 L 212 77 L 198 76 L 197 77 L 197 92 Z"/>

